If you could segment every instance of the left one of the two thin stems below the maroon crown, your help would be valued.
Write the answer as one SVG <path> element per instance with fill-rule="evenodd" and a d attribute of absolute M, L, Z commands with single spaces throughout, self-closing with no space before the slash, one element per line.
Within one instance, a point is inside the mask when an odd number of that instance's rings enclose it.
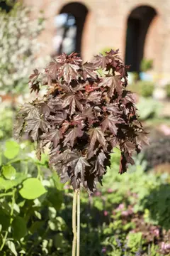
<path fill-rule="evenodd" d="M 73 196 L 73 206 L 72 206 L 72 232 L 73 232 L 73 241 L 72 241 L 72 256 L 76 256 L 76 247 L 77 247 L 77 191 L 74 191 Z"/>

